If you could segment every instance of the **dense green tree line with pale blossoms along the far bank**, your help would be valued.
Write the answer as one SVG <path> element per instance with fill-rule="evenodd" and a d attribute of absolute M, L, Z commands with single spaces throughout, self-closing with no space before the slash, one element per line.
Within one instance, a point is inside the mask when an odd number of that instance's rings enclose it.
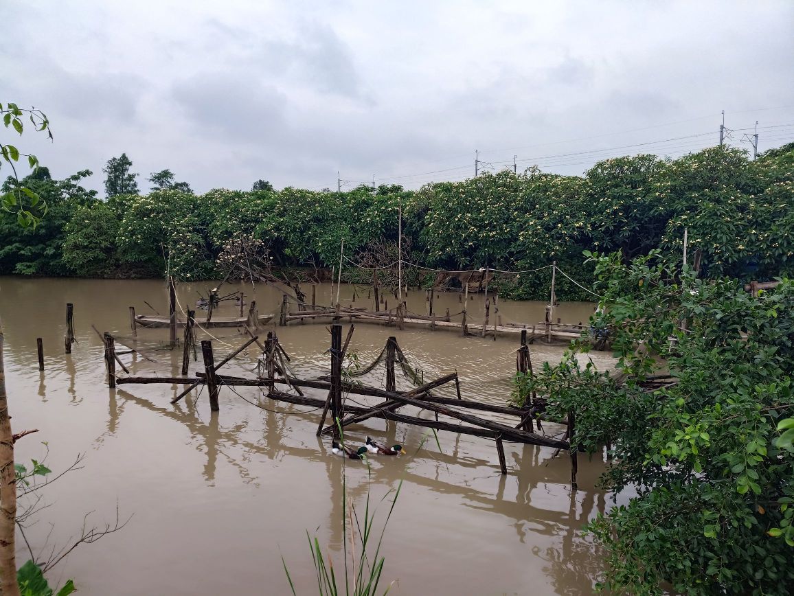
<path fill-rule="evenodd" d="M 684 228 L 689 253 L 700 249 L 703 275 L 769 279 L 790 275 L 794 263 L 794 144 L 757 160 L 709 148 L 677 160 L 604 160 L 583 176 L 502 171 L 417 191 L 342 193 L 274 190 L 260 180 L 251 191 L 197 195 L 164 170 L 152 173 L 152 190 L 141 195 L 129 159 L 111 162 L 105 200 L 80 186 L 87 171 L 58 181 L 40 168 L 25 179 L 49 215 L 33 231 L 4 214 L 0 273 L 149 277 L 168 267 L 201 279 L 218 275 L 218 255 L 241 237 L 264 240 L 277 266 L 332 267 L 343 239 L 353 260 L 373 243 L 395 243 L 400 202 L 407 258 L 427 267 L 523 271 L 556 260 L 588 285 L 584 250 L 620 251 L 626 262 L 655 248 L 680 254 Z M 540 298 L 548 275 L 501 284 L 516 297 Z M 586 297 L 566 283 L 560 298 Z"/>

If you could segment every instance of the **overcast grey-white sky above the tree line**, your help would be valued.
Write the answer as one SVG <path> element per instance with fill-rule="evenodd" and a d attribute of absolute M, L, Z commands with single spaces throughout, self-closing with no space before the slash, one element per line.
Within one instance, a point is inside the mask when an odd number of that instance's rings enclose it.
<path fill-rule="evenodd" d="M 0 101 L 55 135 L 16 144 L 97 189 L 121 152 L 141 190 L 168 167 L 203 192 L 417 188 L 476 149 L 580 173 L 716 144 L 722 110 L 730 142 L 794 140 L 791 0 L 4 4 Z"/>

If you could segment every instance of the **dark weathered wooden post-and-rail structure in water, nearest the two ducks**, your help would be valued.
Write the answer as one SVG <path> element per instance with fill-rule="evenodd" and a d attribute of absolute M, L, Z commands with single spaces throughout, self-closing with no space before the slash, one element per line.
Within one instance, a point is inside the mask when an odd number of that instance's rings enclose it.
<path fill-rule="evenodd" d="M 461 397 L 460 379 L 457 372 L 443 375 L 438 379 L 423 383 L 415 371 L 410 367 L 402 349 L 399 348 L 395 337 L 388 338 L 383 351 L 376 359 L 364 367 L 361 371 L 345 371 L 343 374 L 343 361 L 353 336 L 354 325 L 350 325 L 349 332 L 342 342 L 342 326 L 338 323 L 331 325 L 331 345 L 330 345 L 330 375 L 315 379 L 300 379 L 291 372 L 291 358 L 279 344 L 275 333 L 268 333 L 264 343 L 260 342 L 259 336 L 254 335 L 246 327 L 250 339 L 241 345 L 235 352 L 227 356 L 220 363 L 214 362 L 212 342 L 203 340 L 202 358 L 203 371 L 198 371 L 195 376 L 187 376 L 189 362 L 189 344 L 191 337 L 188 336 L 186 329 L 186 340 L 183 352 L 183 376 L 179 377 L 156 377 L 156 376 L 118 376 L 116 375 L 115 365 L 118 358 L 115 354 L 113 336 L 105 334 L 106 366 L 108 370 L 108 382 L 111 387 L 117 384 L 133 383 L 168 383 L 187 385 L 187 388 L 178 394 L 172 403 L 179 402 L 192 390 L 199 386 L 206 386 L 210 398 L 210 409 L 219 410 L 218 394 L 223 386 L 234 390 L 238 386 L 255 386 L 266 389 L 266 396 L 276 402 L 287 402 L 301 406 L 312 406 L 322 409 L 317 429 L 317 435 L 331 435 L 334 439 L 340 439 L 344 429 L 360 424 L 369 418 L 380 418 L 387 421 L 401 422 L 408 425 L 416 425 L 434 430 L 443 430 L 450 433 L 460 433 L 471 436 L 481 436 L 486 439 L 494 440 L 497 455 L 499 457 L 499 468 L 503 474 L 507 474 L 507 463 L 504 456 L 503 441 L 514 443 L 533 444 L 540 447 L 549 447 L 567 450 L 571 457 L 571 483 L 576 487 L 576 450 L 570 449 L 568 437 L 574 431 L 575 417 L 569 413 L 567 419 L 561 421 L 566 426 L 565 435 L 562 438 L 545 436 L 542 430 L 543 412 L 545 410 L 545 400 L 535 398 L 527 399 L 526 406 L 499 406 L 476 400 L 463 399 Z M 260 366 L 255 378 L 245 378 L 239 376 L 222 375 L 218 370 L 226 363 L 233 360 L 245 348 L 256 343 L 261 349 Z M 531 360 L 529 346 L 527 344 L 526 330 L 521 332 L 521 345 L 517 350 L 516 367 L 518 371 L 529 372 L 531 374 Z M 381 364 L 386 370 L 385 387 L 368 386 L 354 380 L 357 377 L 366 375 Z M 403 374 L 410 379 L 414 388 L 400 391 L 396 387 L 395 369 L 399 367 Z M 434 393 L 434 390 L 454 383 L 457 398 L 446 398 Z M 327 391 L 326 398 L 315 398 L 303 393 L 303 389 Z M 236 391 L 235 391 L 236 392 Z M 362 395 L 370 398 L 378 398 L 380 401 L 373 406 L 351 405 L 347 402 L 346 395 Z M 239 394 L 238 394 L 239 395 Z M 241 395 L 242 398 L 244 398 Z M 245 399 L 245 398 L 244 398 Z M 254 406 L 264 407 L 258 402 L 246 399 Z M 410 406 L 418 410 L 426 410 L 434 413 L 434 418 L 424 418 L 418 415 L 409 415 L 400 412 L 403 407 Z M 472 413 L 495 413 L 501 416 L 514 417 L 516 424 L 505 424 L 491 418 Z M 330 413 L 330 421 L 326 425 L 326 420 Z"/>

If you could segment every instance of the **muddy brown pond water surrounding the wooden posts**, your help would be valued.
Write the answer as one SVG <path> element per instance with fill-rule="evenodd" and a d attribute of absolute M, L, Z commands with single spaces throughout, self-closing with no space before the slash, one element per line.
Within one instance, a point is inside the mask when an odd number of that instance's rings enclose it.
<path fill-rule="evenodd" d="M 180 285 L 180 306 L 195 305 L 196 290 L 206 295 L 211 285 Z M 227 284 L 222 290 L 236 287 Z M 253 294 L 250 284 L 241 287 L 247 297 Z M 580 457 L 579 490 L 572 491 L 569 458 L 552 459 L 552 449 L 505 443 L 509 474 L 503 476 L 491 440 L 441 431 L 439 452 L 427 429 L 370 420 L 349 429 L 349 443 L 363 444 L 370 435 L 403 444 L 407 455 L 372 457 L 368 470 L 364 463 L 330 455 L 329 440 L 314 435 L 318 411 L 267 399 L 260 403 L 268 410 L 260 410 L 241 398 L 261 398 L 256 388 L 238 388 L 240 395 L 223 388 L 219 413 L 210 413 L 206 393 L 197 397 L 194 392 L 172 406 L 169 401 L 181 386 L 108 389 L 102 344 L 91 324 L 129 336 L 128 306 L 151 313 L 148 301 L 167 313 L 166 295 L 164 282 L 156 280 L 0 278 L 13 429 L 39 429 L 17 443 L 17 462 L 42 459 L 48 449 L 48 467 L 57 472 L 84 454 L 82 469 L 42 491 L 48 507 L 26 532 L 34 552 L 46 559 L 53 546 L 69 544 L 86 513 L 93 512 L 88 524 L 100 527 L 114 521 L 117 503 L 122 518 L 132 515 L 120 532 L 75 549 L 51 579 L 73 578 L 83 594 L 288 594 L 283 556 L 298 593 L 316 594 L 306 531 L 318 536 L 338 573 L 344 475 L 347 496 L 360 511 L 370 491 L 372 505 L 378 504 L 379 530 L 391 496 L 381 499 L 403 481 L 381 549 L 381 585 L 394 581 L 391 594 L 592 591 L 601 557 L 578 531 L 611 504 L 611 495 L 596 488 L 602 461 Z M 353 286 L 343 285 L 342 300 L 349 303 L 352 297 Z M 256 288 L 260 313 L 273 312 L 277 319 L 280 298 L 270 287 Z M 437 294 L 437 313 L 446 308 L 457 313 L 459 300 L 458 294 Z M 75 305 L 79 342 L 71 356 L 64 354 L 67 302 Z M 359 290 L 357 306 L 371 302 L 367 290 Z M 480 320 L 483 302 L 482 296 L 470 297 L 470 321 Z M 330 303 L 329 285 L 318 286 L 318 303 Z M 424 293 L 411 291 L 408 308 L 424 313 Z M 578 323 L 593 310 L 591 303 L 564 303 L 555 317 Z M 224 302 L 218 314 L 235 312 L 232 302 Z M 531 325 L 542 321 L 544 305 L 499 301 L 499 313 L 506 324 Z M 276 330 L 299 375 L 326 373 L 326 325 L 271 324 L 260 333 L 268 329 Z M 210 332 L 216 361 L 245 340 L 236 329 Z M 518 336 L 463 339 L 445 330 L 398 332 L 357 324 L 351 345 L 360 362 L 377 356 L 390 335 L 397 336 L 425 379 L 457 369 L 464 397 L 499 404 L 508 398 Z M 42 373 L 37 337 L 44 340 Z M 168 329 L 140 330 L 138 345 L 156 363 L 140 356 L 121 358 L 133 374 L 177 375 L 181 350 L 159 349 L 167 339 Z M 534 344 L 531 352 L 537 367 L 544 360 L 558 361 L 563 348 Z M 223 370 L 251 375 L 256 356 L 250 349 Z M 599 367 L 611 364 L 606 353 L 591 356 Z M 191 364 L 191 371 L 195 368 Z M 397 376 L 399 387 L 410 386 L 399 370 Z M 364 381 L 383 383 L 383 367 Z M 450 391 L 453 386 L 439 392 Z M 547 425 L 546 432 L 562 429 Z M 17 544 L 21 563 L 29 554 L 23 540 Z"/>

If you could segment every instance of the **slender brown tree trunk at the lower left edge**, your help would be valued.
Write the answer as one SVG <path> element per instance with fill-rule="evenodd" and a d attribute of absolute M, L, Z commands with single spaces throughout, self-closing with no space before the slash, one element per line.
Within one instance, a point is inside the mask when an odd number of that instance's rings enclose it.
<path fill-rule="evenodd" d="M 8 415 L 6 374 L 2 362 L 2 321 L 0 321 L 0 593 L 19 596 L 14 534 L 17 520 L 17 482 L 13 468 L 13 435 Z"/>

